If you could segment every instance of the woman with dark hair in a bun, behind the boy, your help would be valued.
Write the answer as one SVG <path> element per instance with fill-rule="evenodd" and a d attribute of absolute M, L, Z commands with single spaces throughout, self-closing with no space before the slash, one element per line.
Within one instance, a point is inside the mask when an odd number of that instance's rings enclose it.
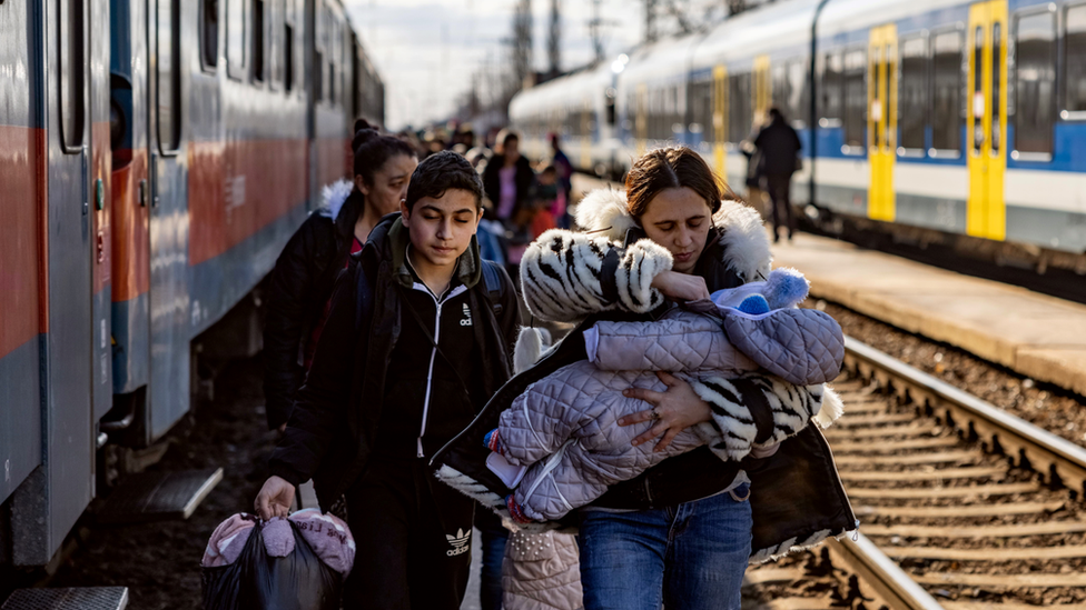
<path fill-rule="evenodd" d="M 264 328 L 264 396 L 268 429 L 283 429 L 309 369 L 336 277 L 385 214 L 399 209 L 418 164 L 407 142 L 365 119 L 352 140 L 354 181 L 324 189 L 324 203 L 298 228 L 272 271 Z"/>

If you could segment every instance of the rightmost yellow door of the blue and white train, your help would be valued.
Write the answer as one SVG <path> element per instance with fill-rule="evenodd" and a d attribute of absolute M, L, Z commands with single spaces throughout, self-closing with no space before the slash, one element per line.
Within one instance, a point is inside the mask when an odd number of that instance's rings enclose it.
<path fill-rule="evenodd" d="M 1004 176 L 1007 171 L 1007 0 L 969 8 L 967 103 L 969 200 L 966 231 L 1003 240 L 1007 230 Z"/>

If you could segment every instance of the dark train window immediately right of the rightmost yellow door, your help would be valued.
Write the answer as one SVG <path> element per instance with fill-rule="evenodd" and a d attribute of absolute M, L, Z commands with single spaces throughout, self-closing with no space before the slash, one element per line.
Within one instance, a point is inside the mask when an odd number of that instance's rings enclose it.
<path fill-rule="evenodd" d="M 1015 158 L 1048 156 L 1056 120 L 1056 16 L 1019 17 L 1016 30 Z"/>

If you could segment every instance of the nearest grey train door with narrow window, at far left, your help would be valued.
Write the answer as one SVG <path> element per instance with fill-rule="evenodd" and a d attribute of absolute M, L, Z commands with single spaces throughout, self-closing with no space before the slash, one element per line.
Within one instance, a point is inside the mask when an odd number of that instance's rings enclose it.
<path fill-rule="evenodd" d="M 42 422 L 45 477 L 31 487 L 45 504 L 24 507 L 33 529 L 16 527 L 17 563 L 46 563 L 93 496 L 93 232 L 90 199 L 89 2 L 29 2 L 46 27 L 48 112 L 48 334 Z M 58 10 L 53 11 L 56 8 Z M 38 21 L 41 23 L 42 21 Z M 57 87 L 53 88 L 53 84 Z M 17 510 L 19 510 L 17 508 Z M 28 526 L 31 520 L 28 520 Z M 27 540 L 19 537 L 27 536 Z"/>

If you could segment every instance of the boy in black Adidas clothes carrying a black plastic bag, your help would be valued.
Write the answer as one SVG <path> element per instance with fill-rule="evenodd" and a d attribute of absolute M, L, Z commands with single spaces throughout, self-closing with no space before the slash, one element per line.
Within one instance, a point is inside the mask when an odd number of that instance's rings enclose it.
<path fill-rule="evenodd" d="M 428 461 L 510 377 L 520 306 L 509 276 L 478 257 L 482 194 L 461 156 L 419 163 L 401 214 L 336 283 L 257 496 L 264 519 L 286 516 L 310 478 L 323 510 L 346 497 L 358 544 L 347 609 L 455 609 L 467 587 L 473 501 Z"/>

